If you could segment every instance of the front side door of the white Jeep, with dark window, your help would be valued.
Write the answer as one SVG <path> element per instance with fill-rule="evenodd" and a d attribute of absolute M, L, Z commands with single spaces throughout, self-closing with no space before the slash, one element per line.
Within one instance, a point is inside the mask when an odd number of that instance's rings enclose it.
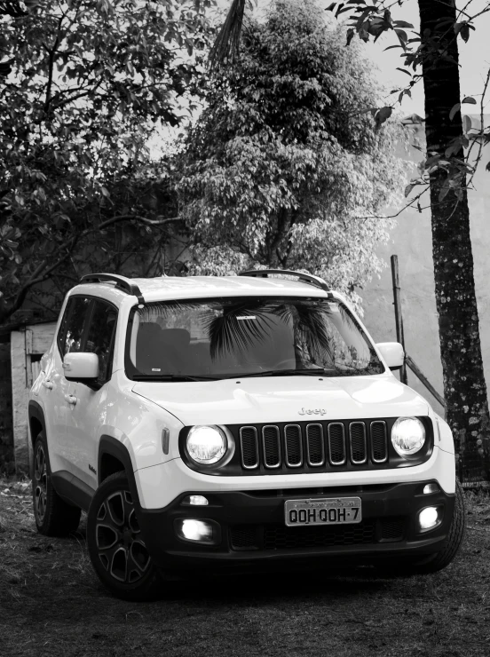
<path fill-rule="evenodd" d="M 99 377 L 94 383 L 71 382 L 67 411 L 67 446 L 73 454 L 74 474 L 97 488 L 98 445 L 106 423 L 107 408 L 113 403 L 110 379 L 114 352 L 117 309 L 102 299 L 94 300 L 91 320 L 83 341 L 83 352 L 99 356 Z"/>

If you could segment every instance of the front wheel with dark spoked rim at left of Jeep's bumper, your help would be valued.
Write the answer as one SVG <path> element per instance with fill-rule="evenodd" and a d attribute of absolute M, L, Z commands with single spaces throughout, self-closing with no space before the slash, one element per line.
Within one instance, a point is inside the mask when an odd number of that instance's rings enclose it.
<path fill-rule="evenodd" d="M 125 472 L 104 479 L 93 496 L 87 546 L 100 581 L 117 598 L 154 598 L 159 574 L 141 537 Z"/>

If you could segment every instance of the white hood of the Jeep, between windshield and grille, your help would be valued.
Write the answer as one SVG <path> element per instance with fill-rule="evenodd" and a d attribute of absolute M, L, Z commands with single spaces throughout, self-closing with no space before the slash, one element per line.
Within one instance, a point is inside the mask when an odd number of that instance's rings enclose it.
<path fill-rule="evenodd" d="M 184 425 L 426 416 L 429 405 L 391 374 L 274 376 L 133 386 Z"/>

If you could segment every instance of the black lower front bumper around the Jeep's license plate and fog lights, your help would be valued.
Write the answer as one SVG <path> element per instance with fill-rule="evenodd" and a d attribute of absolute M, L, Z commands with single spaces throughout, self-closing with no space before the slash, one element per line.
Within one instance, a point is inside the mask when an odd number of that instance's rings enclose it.
<path fill-rule="evenodd" d="M 157 566 L 202 573 L 269 570 L 271 567 L 323 567 L 375 563 L 379 559 L 422 559 L 441 549 L 454 511 L 454 495 L 442 489 L 423 494 L 425 481 L 367 486 L 291 488 L 255 491 L 193 491 L 160 510 L 140 510 L 140 526 Z M 208 506 L 183 504 L 187 495 L 205 495 Z M 287 527 L 284 503 L 291 499 L 359 496 L 360 524 Z M 437 506 L 442 521 L 421 533 L 418 513 Z M 179 518 L 201 518 L 219 526 L 216 545 L 187 542 L 176 534 Z"/>

